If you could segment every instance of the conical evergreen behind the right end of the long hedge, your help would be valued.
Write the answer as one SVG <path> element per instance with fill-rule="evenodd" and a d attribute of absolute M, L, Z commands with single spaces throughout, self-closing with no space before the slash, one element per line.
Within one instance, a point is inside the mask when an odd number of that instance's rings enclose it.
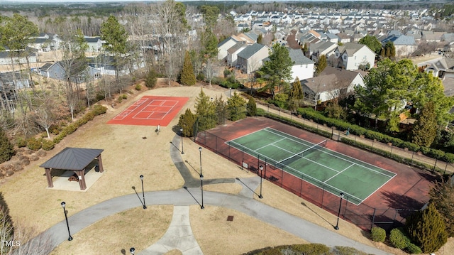
<path fill-rule="evenodd" d="M 428 102 L 423 107 L 418 121 L 413 130 L 413 143 L 419 146 L 430 147 L 437 136 L 437 116 L 433 102 Z"/>

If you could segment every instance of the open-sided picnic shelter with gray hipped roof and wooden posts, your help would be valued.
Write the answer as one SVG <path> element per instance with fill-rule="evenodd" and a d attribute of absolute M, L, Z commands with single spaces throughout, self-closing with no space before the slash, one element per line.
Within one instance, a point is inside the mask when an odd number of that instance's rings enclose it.
<path fill-rule="evenodd" d="M 81 190 L 85 190 L 87 185 L 85 184 L 85 168 L 92 163 L 92 161 L 98 159 L 99 172 L 103 172 L 101 153 L 103 149 L 99 148 L 64 148 L 57 155 L 45 161 L 40 168 L 45 169 L 45 176 L 48 178 L 48 187 L 53 188 L 52 183 L 52 169 L 64 169 L 73 170 L 79 180 L 79 186 Z"/>

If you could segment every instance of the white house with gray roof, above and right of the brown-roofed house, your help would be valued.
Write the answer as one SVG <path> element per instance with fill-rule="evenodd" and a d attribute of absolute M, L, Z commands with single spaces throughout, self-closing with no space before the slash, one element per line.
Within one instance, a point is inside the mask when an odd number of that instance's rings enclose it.
<path fill-rule="evenodd" d="M 359 43 L 345 43 L 338 46 L 335 56 L 333 65 L 345 70 L 358 70 L 362 67 L 368 69 L 375 63 L 375 53 L 367 45 Z"/>

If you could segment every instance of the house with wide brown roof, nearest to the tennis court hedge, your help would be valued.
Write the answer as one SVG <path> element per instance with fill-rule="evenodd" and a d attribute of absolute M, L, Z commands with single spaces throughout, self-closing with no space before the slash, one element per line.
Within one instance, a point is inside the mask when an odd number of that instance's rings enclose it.
<path fill-rule="evenodd" d="M 304 98 L 313 104 L 345 97 L 355 91 L 355 87 L 364 87 L 364 79 L 360 72 L 325 67 L 317 77 L 301 81 Z"/>

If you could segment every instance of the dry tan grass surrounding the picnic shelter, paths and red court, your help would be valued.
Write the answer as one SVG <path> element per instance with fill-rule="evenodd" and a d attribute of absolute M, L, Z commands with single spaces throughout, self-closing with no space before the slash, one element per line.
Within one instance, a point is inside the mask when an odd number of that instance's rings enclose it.
<path fill-rule="evenodd" d="M 186 96 L 190 97 L 185 107 L 180 111 L 189 107 L 192 108 L 195 102 L 195 97 L 199 94 L 199 87 L 163 87 L 145 92 L 136 92 L 131 89 L 132 93 L 128 99 L 118 104 L 115 109 L 109 107 L 108 112 L 104 116 L 98 116 L 94 121 L 79 128 L 74 134 L 65 138 L 64 141 L 57 144 L 56 148 L 38 161 L 32 161 L 24 170 L 15 173 L 6 180 L 1 180 L 0 192 L 4 195 L 6 202 L 9 205 L 11 217 L 16 221 L 24 222 L 31 226 L 36 226 L 38 231 L 48 229 L 53 224 L 64 219 L 60 202 L 67 203 L 69 216 L 74 213 L 84 210 L 87 207 L 96 205 L 99 202 L 108 200 L 112 197 L 127 195 L 133 193 L 131 186 L 140 185 L 139 175 L 144 175 L 145 191 L 152 190 L 174 190 L 182 188 L 184 180 L 179 175 L 178 170 L 172 163 L 170 158 L 170 141 L 175 136 L 172 131 L 172 126 L 177 124 L 178 118 L 172 120 L 170 126 L 162 127 L 161 134 L 157 136 L 153 131 L 154 127 L 150 126 L 125 126 L 125 125 L 110 125 L 106 121 L 113 118 L 121 110 L 128 107 L 132 102 L 144 95 L 162 95 L 162 96 Z M 212 88 L 204 88 L 204 92 L 209 97 L 220 96 L 223 90 Z M 225 98 L 225 96 L 223 96 Z M 146 136 L 147 139 L 142 139 Z M 47 189 L 47 182 L 43 168 L 39 168 L 40 164 L 54 156 L 62 148 L 84 147 L 84 148 L 104 148 L 102 153 L 104 163 L 104 174 L 96 183 L 87 190 L 87 192 L 70 192 L 62 190 Z M 187 166 L 192 169 L 194 178 L 198 178 L 199 171 L 199 145 L 192 142 L 190 139 L 184 139 L 184 155 L 182 158 L 187 161 Z M 211 178 L 244 178 L 252 177 L 253 173 L 246 173 L 224 158 L 212 153 L 209 150 L 202 151 L 203 173 L 206 179 Z M 240 187 L 237 184 L 218 184 L 206 185 L 204 189 L 228 192 L 236 194 Z M 309 202 L 289 193 L 281 188 L 265 181 L 263 183 L 263 199 L 261 202 L 287 211 L 292 215 L 297 215 L 301 218 L 308 219 L 311 222 L 319 224 L 321 227 L 333 229 L 332 224 L 336 222 L 336 216 L 321 210 L 319 207 L 311 205 Z M 304 203 L 304 205 L 302 204 Z M 157 216 L 159 219 L 167 219 L 165 215 L 172 215 L 170 207 L 152 206 L 148 212 L 160 210 L 162 215 Z M 148 215 L 148 212 L 145 214 Z M 125 215 L 135 216 L 135 213 L 143 213 L 143 209 L 137 209 L 123 212 Z M 234 215 L 233 222 L 225 222 L 226 215 Z M 87 235 L 90 244 L 96 242 L 98 237 L 102 238 L 102 244 L 97 249 L 104 249 L 102 245 L 109 244 L 112 251 L 119 253 L 121 249 L 128 249 L 129 244 L 123 242 L 118 233 L 127 235 L 128 227 L 140 226 L 143 224 L 141 217 L 131 217 L 129 225 L 117 225 L 114 219 L 121 215 L 114 215 L 112 218 L 96 222 L 95 225 L 109 226 L 109 231 L 99 227 L 88 227 L 80 233 L 74 234 L 84 236 L 84 232 L 93 233 L 92 236 Z M 249 249 L 258 249 L 263 246 L 288 244 L 291 242 L 303 242 L 297 237 L 276 235 L 279 229 L 274 229 L 263 222 L 260 222 L 251 217 L 241 215 L 238 212 L 233 212 L 225 208 L 206 206 L 206 210 L 196 210 L 196 206 L 190 210 L 191 224 L 197 241 L 201 245 L 202 251 L 205 254 L 238 254 L 248 251 Z M 150 219 L 151 224 L 157 224 L 155 219 Z M 154 223 L 153 223 L 154 222 Z M 240 224 L 238 224 L 240 223 Z M 218 226 L 219 225 L 219 226 Z M 115 227 L 114 227 L 115 226 Z M 121 226 L 121 227 L 120 227 Z M 125 229 L 123 229 L 123 226 Z M 153 225 L 159 227 L 158 225 Z M 384 244 L 375 244 L 371 242 L 364 234 L 348 222 L 340 222 L 340 234 L 350 237 L 357 242 L 376 246 L 379 249 L 384 249 L 392 254 L 404 254 L 397 249 L 391 249 Z M 97 229 L 97 232 L 94 230 Z M 142 231 L 133 228 L 132 232 Z M 91 232 L 93 231 L 93 232 Z M 334 230 L 333 230 L 334 231 Z M 160 231 L 161 233 L 162 231 Z M 161 233 L 161 235 L 164 232 Z M 151 233 L 150 233 L 151 234 Z M 270 235 L 270 237 L 268 237 Z M 260 237 L 269 242 L 260 241 Z M 270 240 L 268 238 L 274 237 Z M 146 247 L 153 244 L 156 237 L 153 239 L 134 239 L 136 237 L 128 237 L 135 247 Z M 323 239 L 323 237 L 321 237 Z M 78 242 L 72 241 L 73 245 Z M 153 241 L 154 240 L 154 241 Z M 287 240 L 292 240 L 287 241 Z M 111 243 L 110 243 L 111 242 Z M 450 254 L 453 251 L 453 239 L 445 245 L 438 254 Z M 87 248 L 88 244 L 83 244 Z M 227 246 L 232 246 L 226 249 Z M 66 249 L 58 248 L 55 253 L 65 251 Z M 77 247 L 71 247 L 66 251 L 74 251 L 74 254 L 79 254 L 74 250 Z M 110 249 L 110 248 L 109 248 Z M 85 250 L 86 251 L 86 250 Z M 138 249 L 139 251 L 139 249 Z M 170 251 L 169 254 L 174 251 Z M 177 251 L 175 251 L 177 252 Z M 87 254 L 87 253 L 85 253 Z"/>

